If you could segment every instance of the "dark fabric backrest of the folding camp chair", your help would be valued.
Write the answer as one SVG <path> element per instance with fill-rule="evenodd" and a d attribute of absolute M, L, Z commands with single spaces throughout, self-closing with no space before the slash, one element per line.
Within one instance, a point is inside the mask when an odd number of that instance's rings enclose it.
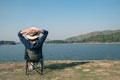
<path fill-rule="evenodd" d="M 33 51 L 29 49 L 27 49 L 26 51 L 30 61 L 38 62 L 40 60 L 40 54 L 37 51 Z"/>

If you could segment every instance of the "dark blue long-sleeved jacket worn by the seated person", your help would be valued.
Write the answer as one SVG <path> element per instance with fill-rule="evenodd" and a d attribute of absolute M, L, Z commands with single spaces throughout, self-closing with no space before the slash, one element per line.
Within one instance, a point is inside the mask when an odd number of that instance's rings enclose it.
<path fill-rule="evenodd" d="M 48 35 L 48 31 L 44 30 L 42 33 L 42 37 L 40 37 L 35 44 L 32 44 L 30 40 L 26 39 L 20 32 L 18 33 L 18 36 L 20 38 L 20 41 L 24 44 L 25 46 L 25 56 L 24 58 L 27 59 L 28 55 L 26 54 L 26 50 L 32 50 L 40 54 L 40 58 L 42 58 L 42 46 L 44 41 L 46 40 L 46 37 Z"/>

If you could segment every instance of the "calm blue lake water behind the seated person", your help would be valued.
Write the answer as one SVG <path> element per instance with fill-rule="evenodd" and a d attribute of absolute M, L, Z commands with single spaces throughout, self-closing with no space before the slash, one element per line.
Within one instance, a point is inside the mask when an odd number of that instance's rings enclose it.
<path fill-rule="evenodd" d="M 120 44 L 44 44 L 45 60 L 120 60 Z M 24 61 L 23 45 L 0 46 L 0 62 Z"/>

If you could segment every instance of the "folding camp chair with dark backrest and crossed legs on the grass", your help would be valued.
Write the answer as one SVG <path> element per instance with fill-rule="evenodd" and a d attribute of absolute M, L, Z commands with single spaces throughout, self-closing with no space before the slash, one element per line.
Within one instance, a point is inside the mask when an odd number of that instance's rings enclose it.
<path fill-rule="evenodd" d="M 39 54 L 37 54 L 34 51 L 31 50 L 27 50 L 27 55 L 28 55 L 28 59 L 26 59 L 26 75 L 29 75 L 29 73 L 32 70 L 37 71 L 39 74 L 43 74 L 43 67 L 42 65 L 40 66 L 40 61 L 42 60 L 39 56 Z M 30 70 L 29 67 L 32 66 L 33 69 Z"/>

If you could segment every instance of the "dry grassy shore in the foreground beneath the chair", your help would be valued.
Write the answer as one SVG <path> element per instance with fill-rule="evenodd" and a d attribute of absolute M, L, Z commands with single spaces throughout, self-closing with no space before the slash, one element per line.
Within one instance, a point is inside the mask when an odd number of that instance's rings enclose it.
<path fill-rule="evenodd" d="M 120 61 L 45 61 L 44 74 L 25 75 L 25 62 L 0 63 L 0 80 L 120 80 Z"/>

